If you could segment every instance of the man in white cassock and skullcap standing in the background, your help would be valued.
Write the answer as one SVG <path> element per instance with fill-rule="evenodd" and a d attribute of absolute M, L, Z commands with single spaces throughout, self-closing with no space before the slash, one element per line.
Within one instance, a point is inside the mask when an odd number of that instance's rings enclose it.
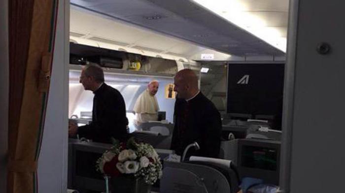
<path fill-rule="evenodd" d="M 158 91 L 159 83 L 156 80 L 147 85 L 147 89 L 140 94 L 134 105 L 136 119 L 134 123 L 139 126 L 141 123 L 158 120 L 158 102 L 155 94 Z"/>

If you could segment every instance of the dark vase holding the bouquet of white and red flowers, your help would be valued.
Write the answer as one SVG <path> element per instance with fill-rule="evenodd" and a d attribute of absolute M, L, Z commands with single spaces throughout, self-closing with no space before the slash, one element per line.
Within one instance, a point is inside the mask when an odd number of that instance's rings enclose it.
<path fill-rule="evenodd" d="M 143 179 L 118 176 L 110 178 L 110 190 L 111 193 L 150 193 L 151 185 Z"/>

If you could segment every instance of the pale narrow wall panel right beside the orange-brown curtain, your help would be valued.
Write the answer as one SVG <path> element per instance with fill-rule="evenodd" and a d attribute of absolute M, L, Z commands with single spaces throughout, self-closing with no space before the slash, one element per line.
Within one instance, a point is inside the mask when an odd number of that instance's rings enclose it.
<path fill-rule="evenodd" d="M 42 148 L 39 193 L 67 192 L 69 0 L 60 0 L 55 51 Z"/>

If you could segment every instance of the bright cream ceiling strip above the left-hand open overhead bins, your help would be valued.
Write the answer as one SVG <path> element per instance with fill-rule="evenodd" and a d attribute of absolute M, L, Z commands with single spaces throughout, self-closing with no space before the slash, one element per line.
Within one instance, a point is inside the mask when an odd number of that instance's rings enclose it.
<path fill-rule="evenodd" d="M 97 21 L 98 24 L 102 23 L 106 25 L 101 26 L 99 29 L 94 29 L 94 21 Z M 126 25 L 118 21 L 109 20 L 97 14 L 85 13 L 79 9 L 72 8 L 70 10 L 70 26 L 70 35 L 72 38 L 83 37 L 97 42 L 123 46 L 124 49 L 126 49 L 125 47 L 132 47 L 142 51 L 183 57 L 190 57 L 202 50 L 206 50 L 207 52 L 205 47 L 132 25 Z M 191 34 L 193 33 L 194 31 L 191 30 Z"/>

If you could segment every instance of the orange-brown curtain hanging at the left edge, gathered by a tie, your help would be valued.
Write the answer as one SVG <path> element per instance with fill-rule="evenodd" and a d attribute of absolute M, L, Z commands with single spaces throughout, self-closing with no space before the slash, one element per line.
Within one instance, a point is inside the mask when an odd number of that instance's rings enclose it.
<path fill-rule="evenodd" d="M 7 193 L 37 192 L 37 160 L 51 76 L 58 0 L 8 0 Z"/>

